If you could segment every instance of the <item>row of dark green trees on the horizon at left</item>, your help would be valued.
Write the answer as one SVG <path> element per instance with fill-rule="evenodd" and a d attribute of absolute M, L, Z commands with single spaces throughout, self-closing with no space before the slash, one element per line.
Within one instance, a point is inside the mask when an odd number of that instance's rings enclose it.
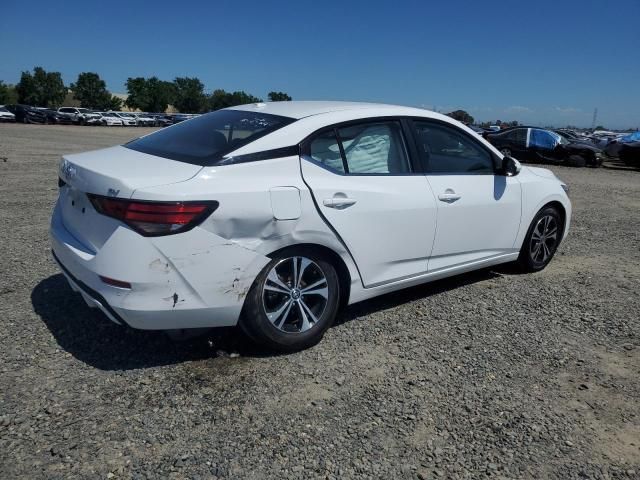
<path fill-rule="evenodd" d="M 216 89 L 208 94 L 196 77 L 177 77 L 172 82 L 155 76 L 130 77 L 125 86 L 128 97 L 123 101 L 107 90 L 105 81 L 97 73 L 80 73 L 77 80 L 67 87 L 60 72 L 47 72 L 42 67 L 35 67 L 33 72 L 22 72 L 16 85 L 0 81 L 0 104 L 24 103 L 56 108 L 65 103 L 69 91 L 81 107 L 97 110 L 119 110 L 126 105 L 145 112 L 164 112 L 172 105 L 179 112 L 202 113 L 263 101 L 244 91 Z M 291 97 L 284 92 L 272 91 L 268 99 L 279 102 L 290 101 Z"/>

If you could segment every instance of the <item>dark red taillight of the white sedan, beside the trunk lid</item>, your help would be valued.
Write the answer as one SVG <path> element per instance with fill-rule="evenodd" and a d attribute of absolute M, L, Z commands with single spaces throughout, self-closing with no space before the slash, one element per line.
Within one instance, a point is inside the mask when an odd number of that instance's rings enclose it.
<path fill-rule="evenodd" d="M 98 213 L 126 223 L 145 237 L 191 230 L 218 208 L 218 202 L 150 202 L 87 196 Z"/>

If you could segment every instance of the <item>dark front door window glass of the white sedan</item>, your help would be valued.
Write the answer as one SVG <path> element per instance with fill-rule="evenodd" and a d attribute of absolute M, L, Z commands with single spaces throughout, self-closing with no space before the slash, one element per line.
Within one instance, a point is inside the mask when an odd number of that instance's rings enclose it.
<path fill-rule="evenodd" d="M 455 127 L 419 121 L 415 122 L 415 127 L 429 173 L 494 173 L 491 154 Z"/>

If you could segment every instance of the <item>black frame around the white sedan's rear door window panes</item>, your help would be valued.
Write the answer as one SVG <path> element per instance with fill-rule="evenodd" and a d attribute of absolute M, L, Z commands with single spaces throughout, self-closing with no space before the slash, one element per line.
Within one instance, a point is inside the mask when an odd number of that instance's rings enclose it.
<path fill-rule="evenodd" d="M 416 148 L 415 148 L 415 138 L 413 133 L 410 131 L 409 126 L 406 123 L 406 120 L 411 117 L 406 116 L 380 116 L 380 117 L 366 117 L 366 118 L 357 118 L 353 120 L 347 120 L 344 122 L 338 122 L 331 125 L 326 125 L 318 130 L 315 130 L 313 133 L 307 135 L 300 142 L 300 157 L 304 160 L 307 160 L 314 165 L 319 166 L 335 175 L 340 175 L 343 177 L 410 177 L 410 176 L 424 176 L 423 172 L 420 172 L 422 166 L 419 163 Z M 340 135 L 338 134 L 338 129 L 347 128 L 354 125 L 362 125 L 364 123 L 383 123 L 383 122 L 394 122 L 398 124 L 400 127 L 400 136 L 404 143 L 404 150 L 407 155 L 407 160 L 409 161 L 409 172 L 407 173 L 359 173 L 359 172 L 349 172 L 347 159 L 344 152 L 344 148 L 342 146 L 342 140 L 340 139 Z M 340 155 L 342 157 L 342 165 L 345 169 L 344 172 L 340 172 L 333 168 L 330 168 L 323 164 L 322 162 L 318 162 L 311 157 L 311 142 L 318 136 L 323 133 L 333 131 L 334 136 L 336 137 L 336 141 L 338 142 L 338 146 L 340 148 Z"/>

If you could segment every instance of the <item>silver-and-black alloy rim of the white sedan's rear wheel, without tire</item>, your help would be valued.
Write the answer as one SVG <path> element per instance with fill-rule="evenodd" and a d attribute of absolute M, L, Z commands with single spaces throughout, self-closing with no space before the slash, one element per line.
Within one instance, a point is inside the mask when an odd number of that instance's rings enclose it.
<path fill-rule="evenodd" d="M 279 261 L 262 287 L 262 307 L 269 321 L 286 333 L 313 328 L 324 314 L 329 284 L 320 266 L 306 257 Z"/>

